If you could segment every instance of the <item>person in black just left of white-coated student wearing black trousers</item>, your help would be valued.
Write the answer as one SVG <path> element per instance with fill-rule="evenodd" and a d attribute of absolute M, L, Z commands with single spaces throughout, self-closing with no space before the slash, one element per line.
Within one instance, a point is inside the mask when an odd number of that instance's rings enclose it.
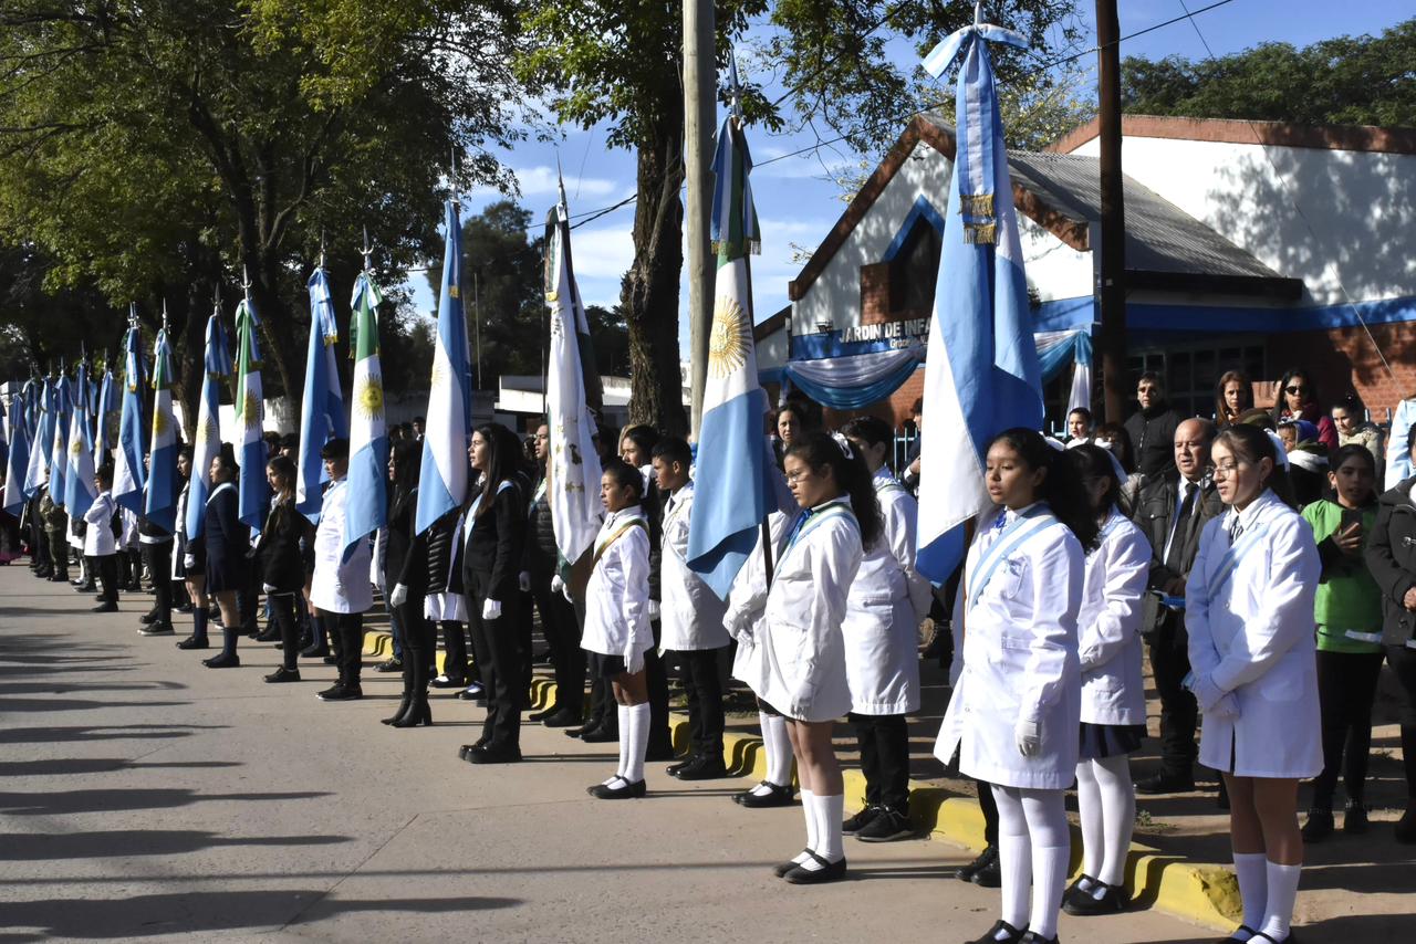
<path fill-rule="evenodd" d="M 285 662 L 268 682 L 299 682 L 296 660 L 300 652 L 300 624 L 296 621 L 296 597 L 307 597 L 310 573 L 314 569 L 314 525 L 295 508 L 295 463 L 285 456 L 273 456 L 266 463 L 270 483 L 270 514 L 256 542 L 261 565 L 261 589 L 270 603 L 270 614 L 280 630 L 280 655 Z"/>

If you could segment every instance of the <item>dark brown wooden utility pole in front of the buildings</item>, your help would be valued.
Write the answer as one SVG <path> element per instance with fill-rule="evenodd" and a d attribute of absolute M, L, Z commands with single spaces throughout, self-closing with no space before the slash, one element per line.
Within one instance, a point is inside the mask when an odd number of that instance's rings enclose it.
<path fill-rule="evenodd" d="M 1126 202 L 1121 192 L 1121 27 L 1116 0 L 1096 0 L 1097 100 L 1100 103 L 1102 260 L 1096 297 L 1102 327 L 1097 352 L 1107 422 L 1121 422 L 1126 402 Z"/>

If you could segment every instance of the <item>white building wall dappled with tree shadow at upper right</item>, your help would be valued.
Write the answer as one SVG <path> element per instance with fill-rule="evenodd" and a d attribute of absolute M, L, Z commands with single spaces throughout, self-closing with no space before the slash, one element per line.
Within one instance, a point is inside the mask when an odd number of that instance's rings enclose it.
<path fill-rule="evenodd" d="M 1096 156 L 1090 140 L 1075 153 Z M 1264 153 L 1267 151 L 1267 154 Z M 1129 177 L 1212 226 L 1307 301 L 1416 294 L 1416 156 L 1127 136 Z"/>

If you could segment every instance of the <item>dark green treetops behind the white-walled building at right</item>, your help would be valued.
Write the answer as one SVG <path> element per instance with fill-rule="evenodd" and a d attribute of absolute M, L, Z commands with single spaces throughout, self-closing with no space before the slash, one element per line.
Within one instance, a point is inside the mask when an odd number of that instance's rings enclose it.
<path fill-rule="evenodd" d="M 1216 59 L 1127 58 L 1121 102 L 1133 115 L 1416 127 L 1413 64 L 1416 20 L 1408 20 L 1378 37 L 1301 50 L 1264 42 Z"/>

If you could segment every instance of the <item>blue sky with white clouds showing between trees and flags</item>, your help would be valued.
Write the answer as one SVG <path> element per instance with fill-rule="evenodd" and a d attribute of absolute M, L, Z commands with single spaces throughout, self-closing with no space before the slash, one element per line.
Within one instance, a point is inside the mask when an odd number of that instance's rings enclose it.
<path fill-rule="evenodd" d="M 1181 16 L 1187 6 L 1191 11 L 1197 11 L 1212 1 L 1119 0 L 1121 35 Z M 1086 34 L 1085 44 L 1095 45 L 1095 4 L 1090 0 L 1079 0 L 1078 6 L 1079 21 Z M 987 10 L 986 3 L 986 18 Z M 1214 52 L 1225 55 L 1264 41 L 1307 45 L 1337 35 L 1376 34 L 1412 14 L 1410 0 L 1365 0 L 1348 4 L 1318 0 L 1233 0 L 1198 14 L 1195 21 Z M 910 65 L 906 61 L 910 58 L 906 44 L 896 42 L 892 48 L 899 51 L 901 65 Z M 1155 30 L 1133 41 L 1123 41 L 1121 45 L 1123 57 L 1202 58 L 1205 54 L 1195 27 L 1188 21 Z M 1089 68 L 1092 62 L 1092 55 L 1083 59 Z M 767 92 L 773 93 L 770 86 Z M 572 214 L 613 205 L 634 192 L 634 157 L 630 151 L 606 149 L 602 129 L 585 132 L 572 127 L 564 132 L 558 143 L 525 142 L 500 154 L 501 161 L 513 168 L 520 183 L 518 201 L 532 211 L 535 219 L 542 219 L 545 209 L 555 202 L 558 156 L 565 173 Z M 810 134 L 773 136 L 762 129 L 749 129 L 748 139 L 759 163 L 807 147 L 816 140 Z M 826 178 L 823 164 L 860 159 L 861 156 L 850 153 L 843 146 L 834 146 L 830 150 L 779 160 L 753 174 L 763 236 L 762 255 L 753 260 L 758 320 L 773 314 L 787 303 L 787 282 L 801 267 L 800 262 L 793 260 L 793 245 L 814 248 L 844 209 L 840 191 Z M 464 212 L 474 214 L 501 197 L 490 190 L 466 194 Z M 627 205 L 573 231 L 576 276 L 588 303 L 606 307 L 617 303 L 620 277 L 633 258 L 630 239 L 633 212 L 633 205 Z M 477 249 L 464 245 L 464 251 L 474 253 Z M 436 310 L 436 299 L 421 273 L 409 280 L 409 287 L 413 290 L 413 301 L 419 311 Z M 687 357 L 687 289 L 681 296 L 680 347 Z"/>

